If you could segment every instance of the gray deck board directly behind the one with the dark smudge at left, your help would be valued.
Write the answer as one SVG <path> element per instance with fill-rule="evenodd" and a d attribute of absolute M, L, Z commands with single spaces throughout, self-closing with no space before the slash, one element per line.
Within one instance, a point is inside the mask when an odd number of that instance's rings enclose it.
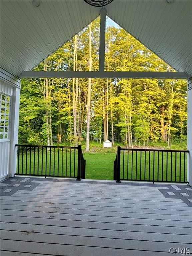
<path fill-rule="evenodd" d="M 114 238 L 114 239 L 129 239 L 129 240 L 144 240 L 144 241 L 162 241 L 172 243 L 191 243 L 192 233 L 189 234 L 165 234 L 154 232 L 139 232 L 139 231 L 118 231 L 118 230 L 101 230 L 93 228 L 71 228 L 71 227 L 59 227 L 49 225 L 32 225 L 32 224 L 20 224 L 20 223 L 1 223 L 1 230 L 13 230 L 29 232 L 32 230 L 37 233 L 47 234 L 59 234 L 59 235 L 76 235 L 76 236 L 88 236 L 88 237 L 100 237 L 100 238 Z"/>

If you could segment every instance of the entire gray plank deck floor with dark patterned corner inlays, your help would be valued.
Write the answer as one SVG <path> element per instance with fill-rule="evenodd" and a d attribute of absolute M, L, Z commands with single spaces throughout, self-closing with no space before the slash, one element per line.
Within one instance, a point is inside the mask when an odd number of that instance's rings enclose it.
<path fill-rule="evenodd" d="M 1 191 L 1 256 L 192 253 L 187 185 L 16 176 Z"/>

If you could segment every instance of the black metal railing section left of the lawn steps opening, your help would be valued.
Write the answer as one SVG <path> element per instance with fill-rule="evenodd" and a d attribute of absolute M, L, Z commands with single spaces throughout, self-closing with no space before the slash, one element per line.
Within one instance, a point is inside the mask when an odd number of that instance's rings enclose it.
<path fill-rule="evenodd" d="M 15 145 L 17 175 L 85 178 L 85 160 L 78 147 Z"/>

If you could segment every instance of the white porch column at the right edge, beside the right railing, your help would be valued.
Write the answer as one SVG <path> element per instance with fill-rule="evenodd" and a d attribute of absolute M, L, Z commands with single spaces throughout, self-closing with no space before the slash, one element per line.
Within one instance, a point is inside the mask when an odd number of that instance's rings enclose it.
<path fill-rule="evenodd" d="M 187 95 L 187 149 L 189 150 L 187 181 L 189 185 L 192 186 L 192 78 L 188 80 Z"/>

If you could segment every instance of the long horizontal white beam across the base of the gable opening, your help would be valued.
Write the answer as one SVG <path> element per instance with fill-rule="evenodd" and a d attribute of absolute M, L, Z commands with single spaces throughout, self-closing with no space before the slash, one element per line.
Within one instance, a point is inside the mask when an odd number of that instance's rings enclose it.
<path fill-rule="evenodd" d="M 20 78 L 155 78 L 190 79 L 185 72 L 124 72 L 124 71 L 24 71 Z"/>

